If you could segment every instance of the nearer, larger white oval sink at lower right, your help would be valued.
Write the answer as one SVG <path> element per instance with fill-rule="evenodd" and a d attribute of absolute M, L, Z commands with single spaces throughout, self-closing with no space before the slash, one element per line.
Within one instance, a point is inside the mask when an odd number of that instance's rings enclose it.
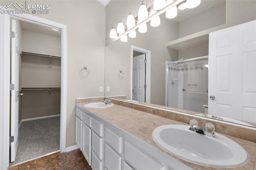
<path fill-rule="evenodd" d="M 242 166 L 247 152 L 233 140 L 215 132 L 215 137 L 188 130 L 187 125 L 164 125 L 153 131 L 154 141 L 167 152 L 188 162 L 217 168 Z"/>

